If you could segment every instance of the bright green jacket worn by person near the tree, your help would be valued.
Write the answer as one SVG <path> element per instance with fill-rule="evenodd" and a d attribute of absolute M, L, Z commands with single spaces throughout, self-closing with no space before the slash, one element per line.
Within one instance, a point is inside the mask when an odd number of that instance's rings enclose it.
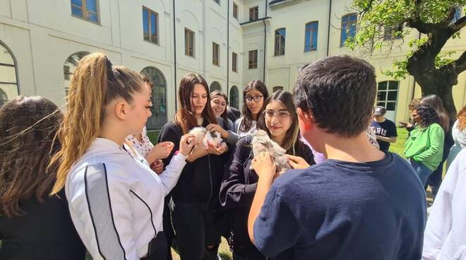
<path fill-rule="evenodd" d="M 430 170 L 436 170 L 443 155 L 445 132 L 439 124 L 431 124 L 426 128 L 416 127 L 411 131 L 405 144 L 406 158 L 422 162 Z"/>

